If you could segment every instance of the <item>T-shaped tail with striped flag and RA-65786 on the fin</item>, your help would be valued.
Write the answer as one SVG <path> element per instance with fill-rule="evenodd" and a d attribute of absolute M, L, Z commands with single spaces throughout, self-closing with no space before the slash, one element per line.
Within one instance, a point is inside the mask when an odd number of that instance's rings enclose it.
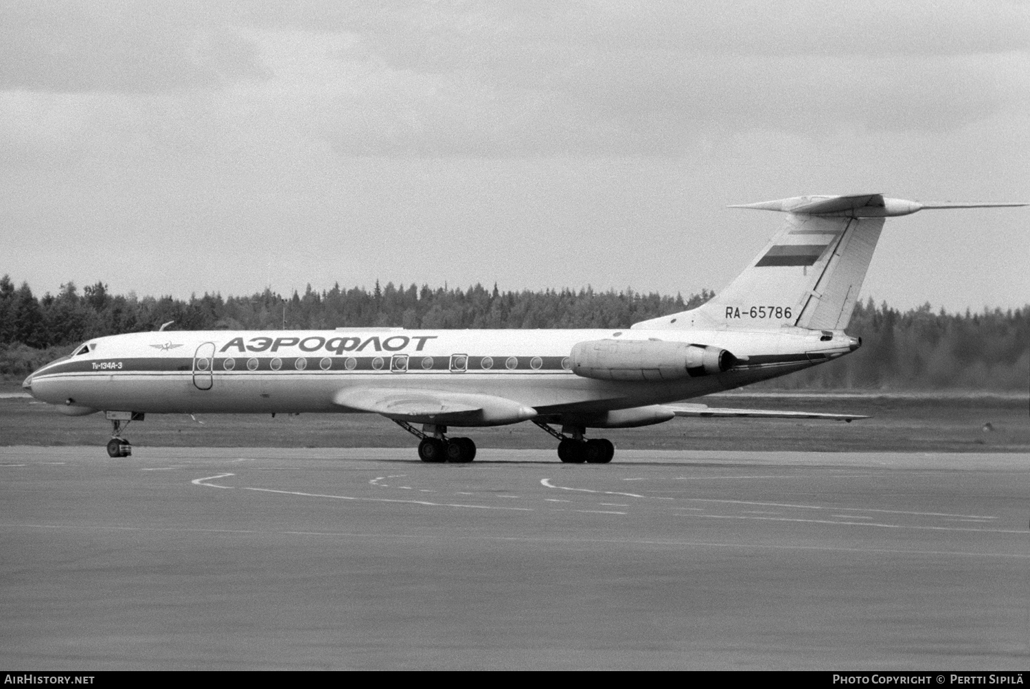
<path fill-rule="evenodd" d="M 806 196 L 730 208 L 787 213 L 751 264 L 706 304 L 636 323 L 637 329 L 844 330 L 851 320 L 884 219 L 938 208 L 1025 203 L 921 204 L 881 194 Z"/>

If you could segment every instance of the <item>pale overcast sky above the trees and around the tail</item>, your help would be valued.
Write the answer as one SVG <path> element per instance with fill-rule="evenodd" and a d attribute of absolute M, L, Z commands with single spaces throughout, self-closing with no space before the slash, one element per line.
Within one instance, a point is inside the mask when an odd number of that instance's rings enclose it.
<path fill-rule="evenodd" d="M 1030 201 L 1030 3 L 3 2 L 0 274 L 725 286 L 805 194 Z M 889 219 L 864 296 L 1030 303 L 1030 209 Z"/>

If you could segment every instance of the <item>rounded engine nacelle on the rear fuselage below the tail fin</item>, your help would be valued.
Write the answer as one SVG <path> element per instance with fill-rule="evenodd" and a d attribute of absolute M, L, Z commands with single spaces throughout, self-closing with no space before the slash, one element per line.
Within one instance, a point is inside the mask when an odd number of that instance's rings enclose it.
<path fill-rule="evenodd" d="M 679 380 L 729 371 L 725 349 L 661 340 L 590 340 L 573 347 L 572 370 L 598 380 Z"/>

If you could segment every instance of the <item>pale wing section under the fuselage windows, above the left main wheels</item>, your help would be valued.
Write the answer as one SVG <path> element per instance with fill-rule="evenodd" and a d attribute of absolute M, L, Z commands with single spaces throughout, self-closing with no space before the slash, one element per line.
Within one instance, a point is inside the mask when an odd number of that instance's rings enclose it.
<path fill-rule="evenodd" d="M 355 411 L 409 423 L 502 425 L 533 418 L 537 410 L 491 394 L 396 387 L 340 390 L 333 402 Z"/>

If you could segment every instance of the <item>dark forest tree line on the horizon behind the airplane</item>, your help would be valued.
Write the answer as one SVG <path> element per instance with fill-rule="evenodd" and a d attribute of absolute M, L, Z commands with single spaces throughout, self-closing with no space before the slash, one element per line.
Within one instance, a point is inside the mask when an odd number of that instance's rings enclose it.
<path fill-rule="evenodd" d="M 37 298 L 28 284 L 0 278 L 0 374 L 28 375 L 90 338 L 171 330 L 307 330 L 339 326 L 408 329 L 627 328 L 694 308 L 715 292 L 670 297 L 632 289 L 501 291 L 411 284 L 315 290 L 286 297 L 263 292 L 226 297 L 112 295 L 97 282 L 79 292 L 68 282 Z M 1030 379 L 1030 305 L 982 312 L 934 312 L 929 304 L 901 312 L 860 303 L 848 333 L 858 352 L 780 378 L 762 387 L 1025 390 Z"/>

